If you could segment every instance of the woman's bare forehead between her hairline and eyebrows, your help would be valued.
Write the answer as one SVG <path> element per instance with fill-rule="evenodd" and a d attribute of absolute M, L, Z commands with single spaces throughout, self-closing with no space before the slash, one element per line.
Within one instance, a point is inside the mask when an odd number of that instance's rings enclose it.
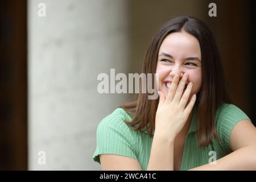
<path fill-rule="evenodd" d="M 198 56 L 201 58 L 199 41 L 187 32 L 174 32 L 163 40 L 159 55 L 169 53 L 172 56 Z"/>

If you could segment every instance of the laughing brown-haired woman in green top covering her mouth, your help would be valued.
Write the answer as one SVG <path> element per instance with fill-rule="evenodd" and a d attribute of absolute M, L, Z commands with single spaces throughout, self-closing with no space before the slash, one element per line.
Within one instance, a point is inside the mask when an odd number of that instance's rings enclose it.
<path fill-rule="evenodd" d="M 123 105 L 97 127 L 103 170 L 256 170 L 256 129 L 225 92 L 218 49 L 199 19 L 170 20 L 152 39 L 142 73 L 159 98 Z"/>

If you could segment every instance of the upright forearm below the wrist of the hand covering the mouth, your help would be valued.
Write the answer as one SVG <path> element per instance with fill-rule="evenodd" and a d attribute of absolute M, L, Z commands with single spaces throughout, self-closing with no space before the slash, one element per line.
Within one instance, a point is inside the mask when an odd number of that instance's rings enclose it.
<path fill-rule="evenodd" d="M 174 170 L 174 139 L 154 135 L 147 170 Z"/>

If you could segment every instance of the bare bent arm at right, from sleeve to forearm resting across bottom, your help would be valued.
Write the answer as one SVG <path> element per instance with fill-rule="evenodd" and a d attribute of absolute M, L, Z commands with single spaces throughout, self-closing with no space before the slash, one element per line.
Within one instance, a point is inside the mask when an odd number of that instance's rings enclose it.
<path fill-rule="evenodd" d="M 256 170 L 256 129 L 247 119 L 234 126 L 230 135 L 233 152 L 216 161 L 191 170 Z"/>

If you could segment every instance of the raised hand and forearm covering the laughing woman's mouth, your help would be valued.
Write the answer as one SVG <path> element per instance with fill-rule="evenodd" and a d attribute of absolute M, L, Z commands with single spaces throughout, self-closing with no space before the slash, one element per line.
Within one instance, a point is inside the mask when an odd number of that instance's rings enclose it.
<path fill-rule="evenodd" d="M 180 82 L 179 76 L 176 75 L 167 97 L 159 92 L 160 99 L 156 111 L 155 135 L 147 170 L 174 170 L 174 140 L 184 127 L 196 101 L 196 97 L 192 97 L 188 102 L 192 84 L 187 86 L 183 94 L 186 81 L 187 77 L 185 75 Z M 177 85 L 178 82 L 179 85 Z"/>

